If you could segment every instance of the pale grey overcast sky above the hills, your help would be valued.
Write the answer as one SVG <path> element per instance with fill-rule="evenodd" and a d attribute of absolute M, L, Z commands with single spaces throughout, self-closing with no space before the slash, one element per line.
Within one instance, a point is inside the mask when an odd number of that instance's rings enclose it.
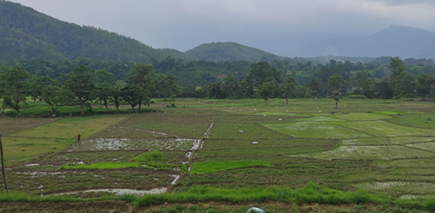
<path fill-rule="evenodd" d="M 49 16 L 180 51 L 235 41 L 295 56 L 320 40 L 391 24 L 435 32 L 435 0 L 12 0 Z"/>

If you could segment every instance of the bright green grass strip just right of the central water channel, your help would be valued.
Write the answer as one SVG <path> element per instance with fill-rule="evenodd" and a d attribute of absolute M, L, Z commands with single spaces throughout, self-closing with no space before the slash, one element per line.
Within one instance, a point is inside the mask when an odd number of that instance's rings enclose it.
<path fill-rule="evenodd" d="M 229 169 L 253 167 L 253 166 L 266 166 L 270 167 L 271 164 L 267 161 L 221 161 L 221 162 L 198 162 L 193 164 L 191 174 L 205 174 Z"/>

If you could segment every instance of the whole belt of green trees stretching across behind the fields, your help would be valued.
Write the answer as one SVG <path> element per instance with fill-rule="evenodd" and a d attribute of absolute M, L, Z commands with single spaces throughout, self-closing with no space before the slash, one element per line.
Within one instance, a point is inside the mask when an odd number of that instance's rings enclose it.
<path fill-rule="evenodd" d="M 170 58 L 169 58 L 170 59 Z M 171 59 L 170 59 L 171 60 Z M 175 60 L 171 60 L 178 66 Z M 215 62 L 201 62 L 214 65 Z M 257 62 L 246 71 L 246 77 L 228 74 L 223 80 L 203 80 L 199 86 L 186 89 L 177 82 L 172 69 L 166 73 L 157 73 L 151 64 L 136 64 L 126 74 L 125 80 L 117 80 L 106 69 L 94 70 L 89 66 L 77 65 L 72 71 L 62 74 L 59 79 L 49 75 L 32 75 L 20 66 L 3 66 L 0 69 L 0 98 L 2 113 L 6 107 L 20 115 L 20 104 L 27 97 L 40 100 L 51 107 L 52 116 L 56 116 L 56 106 L 91 106 L 95 101 L 106 108 L 113 103 L 119 111 L 121 103 L 129 104 L 132 110 L 150 105 L 151 98 L 263 98 L 267 105 L 270 98 L 284 98 L 286 104 L 290 98 L 330 97 L 338 103 L 343 95 L 356 94 L 368 98 L 391 99 L 394 97 L 435 97 L 434 73 L 414 75 L 406 70 L 399 57 L 389 57 L 387 66 L 390 74 L 375 78 L 376 71 L 359 70 L 358 66 L 368 68 L 362 63 L 336 62 L 316 66 L 308 62 L 297 64 L 298 69 L 311 69 L 312 74 L 305 84 L 301 84 L 295 71 L 277 69 L 278 62 Z M 158 64 L 158 70 L 164 70 Z M 221 63 L 222 66 L 237 65 L 246 70 L 243 61 Z M 274 66 L 275 65 L 275 66 Z M 284 64 L 285 65 L 285 64 Z M 284 66 L 283 65 L 283 66 Z M 169 66 L 170 67 L 170 66 Z M 376 80 L 377 79 L 377 80 Z"/>

